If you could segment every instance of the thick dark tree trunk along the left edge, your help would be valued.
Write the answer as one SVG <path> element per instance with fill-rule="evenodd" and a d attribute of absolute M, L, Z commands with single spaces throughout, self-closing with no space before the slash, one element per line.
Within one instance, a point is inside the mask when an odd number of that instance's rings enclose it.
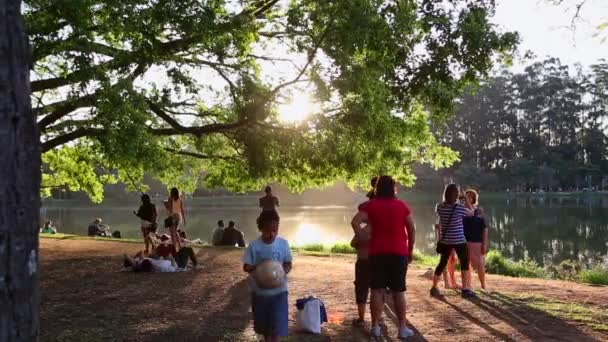
<path fill-rule="evenodd" d="M 40 142 L 21 0 L 0 0 L 0 342 L 38 338 Z"/>

